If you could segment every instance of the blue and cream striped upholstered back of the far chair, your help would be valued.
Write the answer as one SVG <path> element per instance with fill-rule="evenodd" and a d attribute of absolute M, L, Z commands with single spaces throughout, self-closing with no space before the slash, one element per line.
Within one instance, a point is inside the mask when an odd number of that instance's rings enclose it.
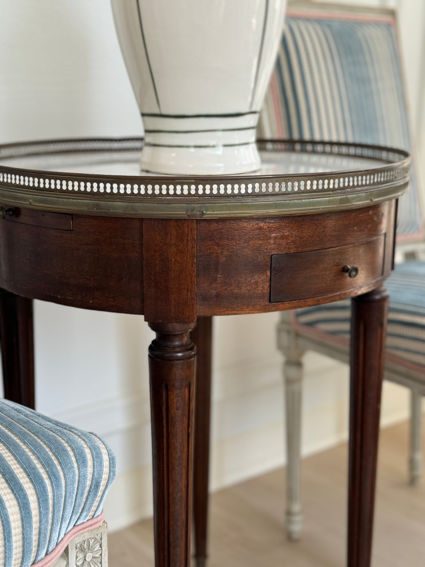
<path fill-rule="evenodd" d="M 259 138 L 411 150 L 396 16 L 387 9 L 290 2 Z M 422 236 L 417 178 L 400 200 L 399 238 Z"/>

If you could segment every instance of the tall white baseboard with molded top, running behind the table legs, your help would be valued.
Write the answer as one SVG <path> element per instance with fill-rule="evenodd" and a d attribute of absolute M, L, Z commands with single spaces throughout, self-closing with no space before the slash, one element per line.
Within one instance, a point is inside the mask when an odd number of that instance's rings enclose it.
<path fill-rule="evenodd" d="M 281 371 L 281 359 L 277 357 L 258 358 L 215 374 L 212 491 L 284 465 Z M 304 379 L 304 456 L 347 439 L 347 376 L 345 365 L 308 353 Z M 394 424 L 407 416 L 408 392 L 386 383 L 381 425 Z M 120 530 L 150 517 L 152 472 L 147 392 L 74 408 L 54 417 L 96 431 L 117 455 L 117 477 L 105 501 L 109 530 Z M 283 507 L 282 502 L 282 510 Z"/>

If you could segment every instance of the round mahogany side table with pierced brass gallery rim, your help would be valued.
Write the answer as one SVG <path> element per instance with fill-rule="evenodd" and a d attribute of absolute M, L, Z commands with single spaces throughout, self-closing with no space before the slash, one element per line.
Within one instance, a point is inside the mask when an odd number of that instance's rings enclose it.
<path fill-rule="evenodd" d="M 259 142 L 256 175 L 141 175 L 140 139 L 0 147 L 0 333 L 8 399 L 33 406 L 32 299 L 140 314 L 149 348 L 155 564 L 205 564 L 210 317 L 353 298 L 347 565 L 368 567 L 397 199 L 409 155 Z M 195 392 L 198 318 L 201 348 Z M 205 378 L 205 379 L 204 379 Z"/>

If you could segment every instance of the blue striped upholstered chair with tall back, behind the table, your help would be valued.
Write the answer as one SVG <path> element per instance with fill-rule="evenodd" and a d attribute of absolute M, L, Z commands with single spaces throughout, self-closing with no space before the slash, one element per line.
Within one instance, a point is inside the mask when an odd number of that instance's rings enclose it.
<path fill-rule="evenodd" d="M 377 143 L 410 149 L 394 12 L 293 2 L 262 111 L 260 138 Z M 425 394 L 425 254 L 418 184 L 398 209 L 398 259 L 390 291 L 385 378 L 411 388 L 410 480 L 421 471 L 420 401 Z M 422 251 L 421 251 L 422 250 Z M 422 254 L 422 258 L 421 255 Z M 286 356 L 287 530 L 302 527 L 300 429 L 302 357 L 316 350 L 349 361 L 350 302 L 283 312 Z"/>

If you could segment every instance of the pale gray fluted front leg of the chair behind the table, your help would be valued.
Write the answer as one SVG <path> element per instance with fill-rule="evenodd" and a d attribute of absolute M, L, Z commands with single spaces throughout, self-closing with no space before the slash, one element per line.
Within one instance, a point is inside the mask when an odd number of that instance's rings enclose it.
<path fill-rule="evenodd" d="M 282 312 L 278 324 L 278 347 L 285 356 L 283 375 L 286 407 L 286 529 L 290 540 L 298 540 L 303 529 L 301 505 L 301 399 L 303 351 L 298 348 L 290 312 Z"/>

